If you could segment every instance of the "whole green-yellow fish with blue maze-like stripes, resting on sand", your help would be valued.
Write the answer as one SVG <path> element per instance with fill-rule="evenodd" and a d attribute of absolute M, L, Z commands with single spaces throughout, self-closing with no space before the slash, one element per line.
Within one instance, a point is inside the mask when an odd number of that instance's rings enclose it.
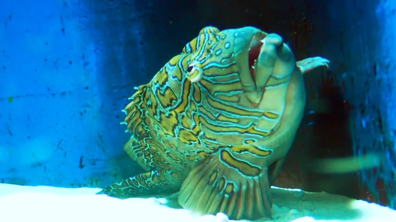
<path fill-rule="evenodd" d="M 302 72 L 276 34 L 205 27 L 126 106 L 124 150 L 147 172 L 99 194 L 117 198 L 179 193 L 200 214 L 271 216 L 270 181 L 293 142 L 305 107 Z M 253 69 L 253 67 L 254 69 Z"/>

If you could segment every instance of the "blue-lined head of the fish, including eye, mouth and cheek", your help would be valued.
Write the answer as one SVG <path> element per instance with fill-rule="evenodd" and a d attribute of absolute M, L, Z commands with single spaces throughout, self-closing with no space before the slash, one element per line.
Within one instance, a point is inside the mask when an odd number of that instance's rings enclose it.
<path fill-rule="evenodd" d="M 175 113 L 169 124 L 194 132 L 191 138 L 204 132 L 222 144 L 270 135 L 282 117 L 295 69 L 293 53 L 271 35 L 251 26 L 200 30 L 153 78 L 161 107 Z"/>

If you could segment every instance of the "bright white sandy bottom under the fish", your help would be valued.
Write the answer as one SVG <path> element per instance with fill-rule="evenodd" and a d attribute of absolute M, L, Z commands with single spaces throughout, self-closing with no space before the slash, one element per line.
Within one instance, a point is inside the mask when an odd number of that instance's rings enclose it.
<path fill-rule="evenodd" d="M 223 222 L 225 215 L 194 216 L 168 198 L 120 200 L 95 195 L 99 188 L 0 184 L 2 222 Z M 273 219 L 257 221 L 394 222 L 396 211 L 344 196 L 272 187 Z M 230 220 L 232 221 L 232 220 Z"/>

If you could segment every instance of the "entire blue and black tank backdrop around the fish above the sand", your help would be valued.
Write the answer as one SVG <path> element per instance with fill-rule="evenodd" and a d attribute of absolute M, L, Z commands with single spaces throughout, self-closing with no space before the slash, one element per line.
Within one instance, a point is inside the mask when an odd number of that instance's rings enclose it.
<path fill-rule="evenodd" d="M 282 35 L 298 60 L 331 60 L 329 71 L 306 77 L 307 118 L 291 150 L 298 158 L 284 171 L 295 163 L 304 168 L 310 155 L 380 153 L 376 170 L 354 174 L 360 182 L 329 188 L 312 182 L 319 176 L 299 175 L 293 186 L 305 181 L 301 188 L 343 194 L 347 185 L 352 192 L 350 184 L 366 184 L 392 199 L 395 10 L 389 0 L 2 1 L 0 182 L 104 187 L 141 172 L 122 150 L 129 135 L 121 110 L 133 87 L 147 83 L 202 27 L 252 25 Z M 327 123 L 312 113 L 328 114 Z"/>

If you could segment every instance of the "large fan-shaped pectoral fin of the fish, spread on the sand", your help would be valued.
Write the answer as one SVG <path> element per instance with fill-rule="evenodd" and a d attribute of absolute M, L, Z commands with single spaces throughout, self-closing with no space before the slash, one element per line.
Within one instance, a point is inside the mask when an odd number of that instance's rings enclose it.
<path fill-rule="evenodd" d="M 197 163 L 183 182 L 179 204 L 193 213 L 225 213 L 232 220 L 271 217 L 267 167 L 221 148 Z"/>

